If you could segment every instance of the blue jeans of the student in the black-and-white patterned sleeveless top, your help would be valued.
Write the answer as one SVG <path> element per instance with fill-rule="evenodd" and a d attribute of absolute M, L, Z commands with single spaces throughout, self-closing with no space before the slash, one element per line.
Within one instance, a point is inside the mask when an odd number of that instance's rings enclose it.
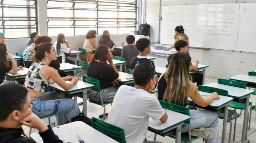
<path fill-rule="evenodd" d="M 44 117 L 51 114 L 58 116 L 59 125 L 71 122 L 71 119 L 78 116 L 80 109 L 73 99 L 60 99 L 57 94 L 43 95 L 42 97 L 33 97 L 32 112 L 38 117 Z"/>

